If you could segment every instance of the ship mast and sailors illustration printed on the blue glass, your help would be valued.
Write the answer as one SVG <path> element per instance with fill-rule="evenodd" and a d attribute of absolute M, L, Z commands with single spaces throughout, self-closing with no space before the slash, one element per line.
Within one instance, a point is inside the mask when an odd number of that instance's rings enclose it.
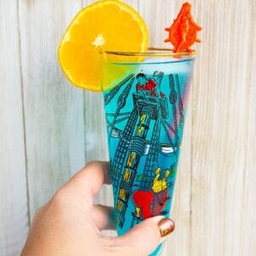
<path fill-rule="evenodd" d="M 176 172 L 183 129 L 183 99 L 177 74 L 170 74 L 168 95 L 161 91 L 164 73 L 131 74 L 104 95 L 108 125 L 116 224 L 131 226 L 164 213 L 169 181 Z M 112 104 L 112 105 L 111 105 Z M 113 107 L 114 106 L 114 107 Z M 114 113 L 112 113 L 114 110 Z M 113 147 L 113 148 L 112 148 Z M 172 156 L 161 166 L 161 156 Z"/>

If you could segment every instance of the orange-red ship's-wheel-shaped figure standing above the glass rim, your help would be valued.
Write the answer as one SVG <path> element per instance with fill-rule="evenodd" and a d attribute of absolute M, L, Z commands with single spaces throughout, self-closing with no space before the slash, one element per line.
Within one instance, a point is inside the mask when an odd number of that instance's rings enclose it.
<path fill-rule="evenodd" d="M 201 26 L 195 23 L 190 11 L 190 3 L 183 3 L 183 7 L 176 20 L 173 20 L 172 26 L 166 27 L 169 38 L 165 40 L 165 43 L 170 42 L 174 46 L 173 52 L 189 52 L 189 48 L 195 42 L 201 43 L 201 40 L 197 38 L 197 32 L 201 31 Z"/>

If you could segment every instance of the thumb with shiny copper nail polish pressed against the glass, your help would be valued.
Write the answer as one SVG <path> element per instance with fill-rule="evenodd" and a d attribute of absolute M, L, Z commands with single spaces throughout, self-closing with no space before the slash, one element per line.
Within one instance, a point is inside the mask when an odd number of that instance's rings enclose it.
<path fill-rule="evenodd" d="M 118 239 L 121 240 L 120 242 L 125 241 L 125 247 L 132 255 L 148 255 L 161 242 L 165 241 L 166 236 L 172 233 L 174 229 L 175 224 L 171 218 L 157 216 L 148 218 L 141 224 L 137 224 Z"/>

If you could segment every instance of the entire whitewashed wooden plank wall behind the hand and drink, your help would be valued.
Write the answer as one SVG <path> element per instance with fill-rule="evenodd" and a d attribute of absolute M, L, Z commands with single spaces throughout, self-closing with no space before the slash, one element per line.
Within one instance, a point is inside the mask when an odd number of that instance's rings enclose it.
<path fill-rule="evenodd" d="M 56 49 L 93 1 L 0 1 L 0 255 L 18 255 L 36 209 L 89 160 L 107 160 L 102 96 L 63 77 Z M 203 31 L 163 256 L 256 252 L 256 3 L 192 3 Z M 179 0 L 125 0 L 165 46 Z M 99 114 L 95 114 L 99 113 Z M 97 202 L 111 205 L 111 188 Z"/>

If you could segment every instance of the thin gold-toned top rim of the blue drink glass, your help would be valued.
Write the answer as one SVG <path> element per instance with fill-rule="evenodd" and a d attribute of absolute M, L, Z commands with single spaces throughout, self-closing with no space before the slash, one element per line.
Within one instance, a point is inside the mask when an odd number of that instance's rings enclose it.
<path fill-rule="evenodd" d="M 196 51 L 190 49 L 189 51 L 182 51 L 179 53 L 173 52 L 173 49 L 169 48 L 156 48 L 148 47 L 145 52 L 129 52 L 129 51 L 112 51 L 106 50 L 101 51 L 102 54 L 106 55 L 120 55 L 120 56 L 148 56 L 148 57 L 195 57 Z"/>

